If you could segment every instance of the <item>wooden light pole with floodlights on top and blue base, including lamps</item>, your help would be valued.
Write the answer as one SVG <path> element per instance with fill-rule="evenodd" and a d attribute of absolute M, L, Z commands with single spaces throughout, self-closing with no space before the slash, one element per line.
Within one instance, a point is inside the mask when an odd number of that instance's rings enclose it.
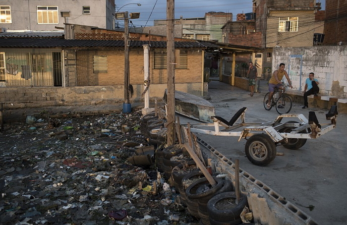
<path fill-rule="evenodd" d="M 131 4 L 131 3 L 129 3 Z M 140 4 L 140 3 L 138 3 Z M 138 5 L 137 4 L 137 5 Z M 141 5 L 141 4 L 140 4 Z M 129 103 L 129 12 L 116 12 L 117 19 L 124 19 L 124 103 L 123 112 L 131 112 L 131 104 Z M 137 19 L 140 17 L 139 12 L 130 13 L 130 19 Z"/>

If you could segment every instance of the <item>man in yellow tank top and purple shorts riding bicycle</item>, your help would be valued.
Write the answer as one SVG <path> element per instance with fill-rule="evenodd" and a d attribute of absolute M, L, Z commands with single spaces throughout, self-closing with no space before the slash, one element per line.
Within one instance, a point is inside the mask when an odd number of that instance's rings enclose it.
<path fill-rule="evenodd" d="M 286 90 L 282 84 L 283 76 L 286 76 L 288 83 L 289 83 L 289 87 L 293 88 L 293 86 L 291 86 L 291 81 L 289 79 L 287 71 L 285 70 L 285 67 L 286 67 L 285 63 L 281 63 L 280 67 L 274 71 L 274 73 L 271 76 L 271 79 L 269 80 L 269 92 L 270 92 L 270 94 L 269 94 L 269 100 L 266 104 L 268 108 L 271 107 L 271 99 L 272 99 L 272 96 L 274 95 L 275 88 L 284 89 L 284 91 Z"/>

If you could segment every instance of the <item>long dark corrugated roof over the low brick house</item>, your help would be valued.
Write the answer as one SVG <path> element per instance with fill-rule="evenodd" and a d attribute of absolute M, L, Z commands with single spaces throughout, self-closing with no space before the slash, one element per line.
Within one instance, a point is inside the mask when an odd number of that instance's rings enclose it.
<path fill-rule="evenodd" d="M 148 41 L 131 41 L 130 47 L 142 47 Z M 58 38 L 0 38 L 0 48 L 92 48 L 124 47 L 124 41 L 115 40 L 65 40 Z M 166 42 L 151 42 L 153 48 L 166 48 Z M 218 48 L 210 42 L 175 42 L 175 48 Z"/>

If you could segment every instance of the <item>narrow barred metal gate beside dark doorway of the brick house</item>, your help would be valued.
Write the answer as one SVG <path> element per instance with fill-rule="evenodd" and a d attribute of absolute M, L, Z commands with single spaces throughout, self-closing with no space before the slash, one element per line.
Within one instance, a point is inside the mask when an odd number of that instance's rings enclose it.
<path fill-rule="evenodd" d="M 76 73 L 76 51 L 74 49 L 67 49 L 64 51 L 65 58 L 65 86 L 77 86 L 77 73 Z"/>

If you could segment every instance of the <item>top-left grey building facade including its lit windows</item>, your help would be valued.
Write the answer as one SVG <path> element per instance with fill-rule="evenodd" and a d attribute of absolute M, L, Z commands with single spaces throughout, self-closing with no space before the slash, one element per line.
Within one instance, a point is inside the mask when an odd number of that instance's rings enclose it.
<path fill-rule="evenodd" d="M 52 31 L 64 23 L 114 29 L 114 0 L 0 0 L 0 28 Z"/>

